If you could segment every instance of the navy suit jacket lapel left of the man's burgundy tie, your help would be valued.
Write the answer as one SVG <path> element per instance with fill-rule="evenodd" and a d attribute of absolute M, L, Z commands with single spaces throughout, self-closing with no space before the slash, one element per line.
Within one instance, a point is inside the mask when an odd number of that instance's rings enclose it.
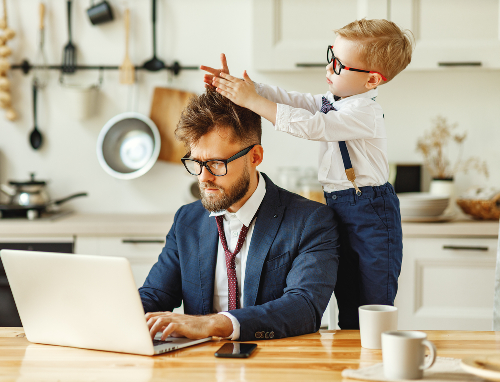
<path fill-rule="evenodd" d="M 203 314 L 209 314 L 213 309 L 213 290 L 215 280 L 215 265 L 217 263 L 218 231 L 215 217 L 203 216 L 199 235 L 199 270 L 201 285 L 201 300 Z"/>

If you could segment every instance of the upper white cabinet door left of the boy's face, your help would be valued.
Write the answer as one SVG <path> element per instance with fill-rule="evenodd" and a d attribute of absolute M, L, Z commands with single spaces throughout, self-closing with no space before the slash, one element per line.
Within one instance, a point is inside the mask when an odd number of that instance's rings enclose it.
<path fill-rule="evenodd" d="M 333 29 L 386 18 L 387 0 L 254 0 L 253 59 L 259 70 L 326 67 Z"/>

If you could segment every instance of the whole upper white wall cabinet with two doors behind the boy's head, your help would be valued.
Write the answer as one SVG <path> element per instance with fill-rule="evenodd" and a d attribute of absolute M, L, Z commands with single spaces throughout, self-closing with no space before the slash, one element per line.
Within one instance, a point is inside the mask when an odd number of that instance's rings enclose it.
<path fill-rule="evenodd" d="M 257 70 L 326 67 L 333 29 L 366 17 L 390 19 L 416 39 L 407 70 L 500 68 L 500 0 L 254 0 Z"/>

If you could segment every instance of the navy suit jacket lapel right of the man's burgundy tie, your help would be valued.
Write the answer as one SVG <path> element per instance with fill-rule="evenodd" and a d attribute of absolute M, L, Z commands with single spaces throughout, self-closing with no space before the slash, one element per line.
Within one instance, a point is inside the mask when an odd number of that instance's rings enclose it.
<path fill-rule="evenodd" d="M 244 284 L 245 307 L 255 305 L 264 261 L 276 237 L 286 208 L 285 206 L 281 206 L 278 190 L 274 183 L 262 172 L 260 174 L 265 178 L 266 191 L 255 220 L 248 258 L 246 260 Z"/>

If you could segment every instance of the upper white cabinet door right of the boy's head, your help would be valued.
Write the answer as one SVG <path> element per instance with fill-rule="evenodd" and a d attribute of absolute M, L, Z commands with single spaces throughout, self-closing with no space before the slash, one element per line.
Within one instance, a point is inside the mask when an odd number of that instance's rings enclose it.
<path fill-rule="evenodd" d="M 416 48 L 408 69 L 500 67 L 498 0 L 393 0 L 390 19 L 410 29 Z"/>

